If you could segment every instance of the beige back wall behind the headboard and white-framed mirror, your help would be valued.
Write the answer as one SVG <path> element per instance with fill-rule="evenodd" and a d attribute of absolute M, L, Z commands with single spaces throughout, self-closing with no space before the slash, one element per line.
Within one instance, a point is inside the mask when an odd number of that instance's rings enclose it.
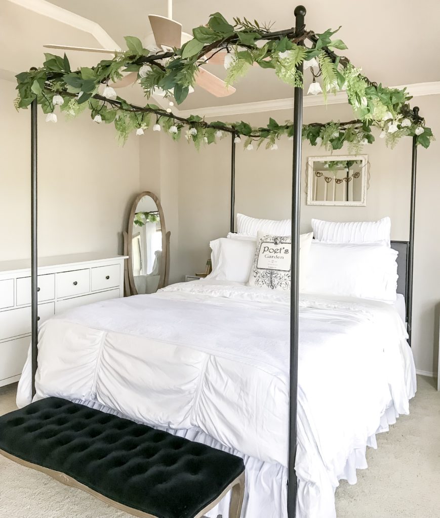
<path fill-rule="evenodd" d="M 438 96 L 414 99 L 421 108 L 434 134 L 440 135 L 440 99 Z M 254 124 L 264 123 L 271 114 L 243 116 Z M 289 119 L 288 112 L 275 112 L 278 121 Z M 238 120 L 240 116 L 230 119 Z M 351 110 L 344 105 L 306 108 L 305 122 L 349 120 Z M 165 136 L 164 136 L 165 137 Z M 162 141 L 163 143 L 163 141 Z M 171 145 L 174 145 L 171 143 Z M 163 143 L 169 150 L 169 142 Z M 175 227 L 174 203 L 178 203 L 178 243 L 174 242 L 172 279 L 181 280 L 185 274 L 204 269 L 209 257 L 209 240 L 225 236 L 229 231 L 230 203 L 230 138 L 217 146 L 200 152 L 183 139 L 169 153 L 178 156 L 178 182 L 173 188 L 173 226 Z M 346 149 L 334 154 L 345 154 Z M 301 227 L 310 229 L 313 217 L 335 220 L 376 220 L 389 215 L 392 220 L 392 239 L 408 239 L 410 156 L 411 140 L 405 138 L 394 150 L 377 139 L 365 147 L 370 161 L 371 182 L 367 192 L 366 207 L 312 207 L 305 205 L 303 174 Z M 305 163 L 310 155 L 327 154 L 321 148 L 304 145 Z M 419 148 L 416 243 L 414 274 L 413 349 L 417 368 L 422 371 L 437 370 L 438 333 L 435 319 L 436 305 L 440 299 L 440 228 L 438 220 L 438 193 L 440 192 L 440 146 L 434 142 L 429 150 Z M 287 218 L 290 215 L 292 142 L 283 139 L 278 151 L 245 151 L 237 147 L 236 159 L 236 212 L 259 218 Z M 163 166 L 163 164 L 162 164 Z M 141 167 L 142 169 L 142 167 Z M 162 175 L 164 174 L 161 167 Z M 166 169 L 166 174 L 170 172 Z M 169 196 L 169 193 L 168 193 Z M 165 211 L 167 218 L 167 212 Z M 173 229 L 172 242 L 176 239 Z M 435 343 L 434 343 L 435 342 Z"/>

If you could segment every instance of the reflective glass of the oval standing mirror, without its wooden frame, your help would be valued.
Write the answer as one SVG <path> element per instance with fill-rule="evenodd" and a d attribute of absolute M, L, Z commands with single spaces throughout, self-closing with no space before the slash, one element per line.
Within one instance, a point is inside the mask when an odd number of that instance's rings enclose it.
<path fill-rule="evenodd" d="M 150 196 L 143 196 L 135 209 L 132 268 L 139 295 L 158 290 L 162 271 L 162 227 L 159 208 Z"/>

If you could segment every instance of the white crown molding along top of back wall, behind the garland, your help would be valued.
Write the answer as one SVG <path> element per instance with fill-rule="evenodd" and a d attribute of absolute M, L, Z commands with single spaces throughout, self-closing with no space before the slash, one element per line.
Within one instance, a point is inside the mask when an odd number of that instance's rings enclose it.
<path fill-rule="evenodd" d="M 399 85 L 402 89 L 406 86 L 408 93 L 413 97 L 421 97 L 424 95 L 438 95 L 440 94 L 440 81 L 432 81 L 426 83 L 413 83 L 407 85 Z M 338 92 L 336 95 L 328 95 L 327 102 L 324 100 L 324 96 L 320 95 L 305 95 L 304 96 L 304 108 L 309 106 L 327 106 L 329 104 L 345 104 L 348 102 L 347 94 L 345 92 Z M 280 111 L 280 110 L 291 110 L 293 109 L 293 98 L 287 99 L 271 99 L 262 100 L 254 103 L 240 103 L 240 104 L 229 104 L 225 106 L 209 106 L 207 108 L 197 108 L 194 110 L 179 110 L 176 115 L 180 117 L 189 117 L 190 115 L 200 115 L 206 118 L 228 116 L 235 114 L 246 114 L 246 113 L 263 113 L 266 111 Z"/>

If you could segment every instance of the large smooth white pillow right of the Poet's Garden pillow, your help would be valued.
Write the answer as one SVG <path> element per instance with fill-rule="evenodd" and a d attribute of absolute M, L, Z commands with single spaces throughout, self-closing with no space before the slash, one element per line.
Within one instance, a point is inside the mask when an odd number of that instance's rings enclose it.
<path fill-rule="evenodd" d="M 313 241 L 304 291 L 395 303 L 398 252 L 380 244 Z"/>

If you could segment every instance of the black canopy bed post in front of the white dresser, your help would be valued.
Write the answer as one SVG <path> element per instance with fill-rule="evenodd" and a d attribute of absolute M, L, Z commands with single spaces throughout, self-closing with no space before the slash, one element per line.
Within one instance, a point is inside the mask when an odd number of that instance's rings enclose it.
<path fill-rule="evenodd" d="M 35 373 L 38 355 L 38 264 L 37 264 L 37 99 L 31 103 L 31 332 L 32 397 L 35 396 Z"/>

